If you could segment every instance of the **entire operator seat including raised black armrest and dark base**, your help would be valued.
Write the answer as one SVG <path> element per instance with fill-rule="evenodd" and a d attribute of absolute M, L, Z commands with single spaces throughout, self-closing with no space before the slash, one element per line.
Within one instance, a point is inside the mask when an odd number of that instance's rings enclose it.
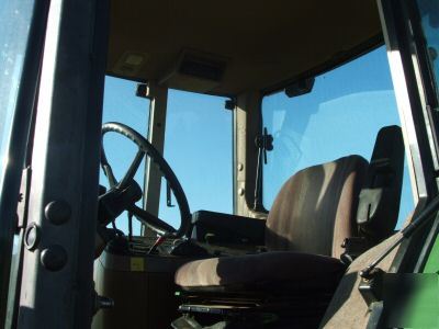
<path fill-rule="evenodd" d="M 191 261 L 177 270 L 176 284 L 207 313 L 256 300 L 251 311 L 277 314 L 281 328 L 315 328 L 347 264 L 393 234 L 403 172 L 401 127 L 383 127 L 370 163 L 348 156 L 284 183 L 266 222 L 267 252 Z M 194 309 L 201 308 L 180 306 Z"/>

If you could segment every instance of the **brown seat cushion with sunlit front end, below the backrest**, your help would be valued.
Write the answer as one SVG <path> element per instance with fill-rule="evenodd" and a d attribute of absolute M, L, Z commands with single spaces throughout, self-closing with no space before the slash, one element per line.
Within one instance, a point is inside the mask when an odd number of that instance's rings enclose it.
<path fill-rule="evenodd" d="M 345 270 L 330 257 L 272 251 L 192 261 L 176 272 L 176 283 L 187 291 L 212 292 L 335 290 Z"/>

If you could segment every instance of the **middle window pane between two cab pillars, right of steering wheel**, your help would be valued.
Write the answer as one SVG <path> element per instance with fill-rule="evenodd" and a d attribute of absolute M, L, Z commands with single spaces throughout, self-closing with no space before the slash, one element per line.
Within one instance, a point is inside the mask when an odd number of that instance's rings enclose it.
<path fill-rule="evenodd" d="M 191 212 L 233 212 L 233 113 L 224 109 L 225 100 L 177 90 L 168 93 L 164 155 Z M 159 217 L 178 228 L 178 206 L 168 206 L 166 196 L 162 179 Z"/>

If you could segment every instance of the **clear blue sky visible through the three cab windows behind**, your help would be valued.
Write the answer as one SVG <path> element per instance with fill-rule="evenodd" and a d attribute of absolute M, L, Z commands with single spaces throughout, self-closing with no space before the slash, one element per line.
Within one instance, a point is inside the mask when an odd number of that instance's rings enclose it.
<path fill-rule="evenodd" d="M 103 121 L 120 121 L 146 135 L 149 101 L 135 97 L 135 86 L 106 78 Z M 191 211 L 232 213 L 233 122 L 232 112 L 224 109 L 225 99 L 176 90 L 169 91 L 168 99 L 165 158 L 187 192 Z M 349 154 L 369 159 L 378 129 L 399 124 L 383 47 L 317 77 L 307 95 L 289 99 L 281 92 L 267 97 L 262 109 L 264 125 L 274 136 L 274 150 L 264 167 L 268 208 L 295 171 Z M 105 147 L 120 178 L 134 157 L 134 144 L 113 134 L 105 137 Z M 140 184 L 143 177 L 139 170 L 136 180 Z M 407 175 L 405 181 L 409 181 Z M 165 195 L 162 184 L 159 215 L 179 226 L 178 208 L 166 207 Z M 409 184 L 404 185 L 402 203 L 399 220 L 413 208 Z M 126 219 L 117 225 L 126 229 Z"/>

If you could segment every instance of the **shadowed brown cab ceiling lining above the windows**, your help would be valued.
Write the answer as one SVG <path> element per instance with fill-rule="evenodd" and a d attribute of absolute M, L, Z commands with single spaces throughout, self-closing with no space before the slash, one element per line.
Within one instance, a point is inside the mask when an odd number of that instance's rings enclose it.
<path fill-rule="evenodd" d="M 381 41 L 375 0 L 119 0 L 108 73 L 214 94 L 272 91 Z M 221 63 L 218 81 L 175 75 L 185 53 Z"/>

